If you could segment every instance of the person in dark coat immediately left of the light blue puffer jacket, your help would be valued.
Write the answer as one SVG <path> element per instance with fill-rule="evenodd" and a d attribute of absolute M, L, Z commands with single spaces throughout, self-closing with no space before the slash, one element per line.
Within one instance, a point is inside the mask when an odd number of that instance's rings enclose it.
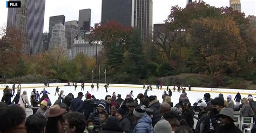
<path fill-rule="evenodd" d="M 126 109 L 125 105 L 117 109 L 116 117 L 120 124 L 122 125 L 122 129 L 125 133 L 129 133 L 131 130 L 131 122 L 130 120 L 125 116 L 126 115 Z"/>

